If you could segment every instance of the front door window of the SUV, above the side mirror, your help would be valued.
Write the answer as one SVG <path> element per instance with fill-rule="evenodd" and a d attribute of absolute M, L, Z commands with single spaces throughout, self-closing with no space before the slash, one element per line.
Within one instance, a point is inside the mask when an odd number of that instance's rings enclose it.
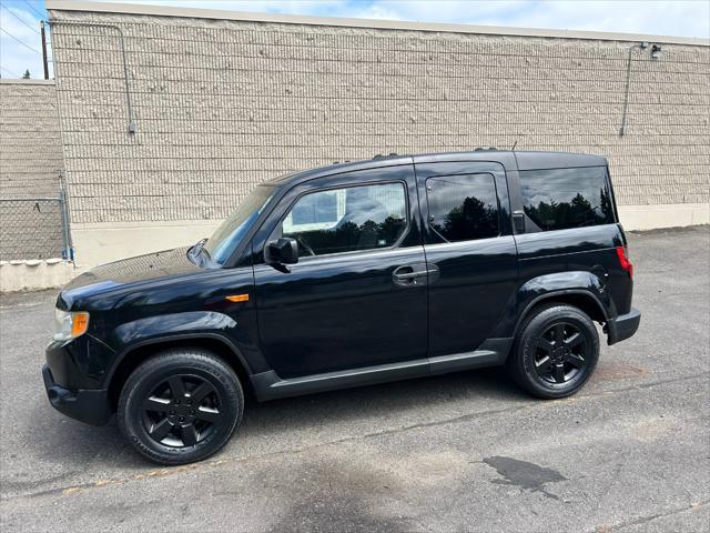
<path fill-rule="evenodd" d="M 298 255 L 394 245 L 407 228 L 403 183 L 379 183 L 301 197 L 281 223 L 282 237 L 298 242 Z"/>

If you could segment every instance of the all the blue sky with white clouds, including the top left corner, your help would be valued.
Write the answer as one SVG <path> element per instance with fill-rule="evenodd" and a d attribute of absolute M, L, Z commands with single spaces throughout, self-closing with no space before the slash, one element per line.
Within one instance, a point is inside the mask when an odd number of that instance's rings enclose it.
<path fill-rule="evenodd" d="M 105 0 L 104 0 L 105 1 Z M 710 0 L 123 0 L 231 11 L 710 38 Z M 43 77 L 44 0 L 0 0 L 0 77 Z M 51 47 L 50 47 L 51 59 Z M 50 63 L 51 77 L 51 63 Z"/>

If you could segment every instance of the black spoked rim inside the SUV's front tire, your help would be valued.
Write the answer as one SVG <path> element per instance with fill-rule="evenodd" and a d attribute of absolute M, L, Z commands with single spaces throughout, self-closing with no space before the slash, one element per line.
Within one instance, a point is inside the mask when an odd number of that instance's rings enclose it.
<path fill-rule="evenodd" d="M 141 418 L 153 441 L 171 447 L 194 446 L 216 430 L 222 419 L 220 398 L 203 378 L 173 375 L 145 398 Z"/>

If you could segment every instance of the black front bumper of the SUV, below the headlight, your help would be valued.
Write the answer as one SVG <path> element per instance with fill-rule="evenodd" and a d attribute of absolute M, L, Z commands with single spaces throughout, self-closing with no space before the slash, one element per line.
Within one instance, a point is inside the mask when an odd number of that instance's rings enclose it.
<path fill-rule="evenodd" d="M 103 425 L 111 419 L 108 391 L 65 389 L 54 383 L 52 372 L 45 364 L 42 366 L 42 378 L 49 403 L 57 411 L 93 425 Z"/>

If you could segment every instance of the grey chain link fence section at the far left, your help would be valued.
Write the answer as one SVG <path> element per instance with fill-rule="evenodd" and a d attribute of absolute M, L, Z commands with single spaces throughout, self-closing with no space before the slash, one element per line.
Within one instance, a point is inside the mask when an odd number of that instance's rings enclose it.
<path fill-rule="evenodd" d="M 57 198 L 0 198 L 0 260 L 73 260 L 63 189 Z"/>

